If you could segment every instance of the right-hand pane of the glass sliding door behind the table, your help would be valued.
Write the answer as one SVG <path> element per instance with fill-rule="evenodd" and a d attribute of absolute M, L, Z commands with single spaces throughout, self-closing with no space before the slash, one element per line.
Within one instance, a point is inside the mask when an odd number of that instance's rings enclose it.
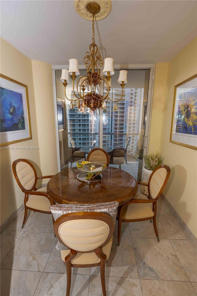
<path fill-rule="evenodd" d="M 123 90 L 122 100 L 117 103 L 108 100 L 107 110 L 103 112 L 103 148 L 125 148 L 126 162 L 121 165 L 121 169 L 141 181 L 149 69 L 127 71 L 128 83 Z M 116 82 L 118 75 L 119 70 L 115 70 L 111 79 L 109 98 L 113 101 L 118 101 L 122 93 L 122 88 Z M 119 167 L 113 162 L 111 165 Z"/>

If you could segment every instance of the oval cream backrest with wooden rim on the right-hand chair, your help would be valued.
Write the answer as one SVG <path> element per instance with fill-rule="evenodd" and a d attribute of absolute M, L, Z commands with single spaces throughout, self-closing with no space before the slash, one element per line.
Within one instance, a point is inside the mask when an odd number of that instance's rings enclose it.
<path fill-rule="evenodd" d="M 148 194 L 158 199 L 170 176 L 170 168 L 165 164 L 156 167 L 148 180 Z"/>

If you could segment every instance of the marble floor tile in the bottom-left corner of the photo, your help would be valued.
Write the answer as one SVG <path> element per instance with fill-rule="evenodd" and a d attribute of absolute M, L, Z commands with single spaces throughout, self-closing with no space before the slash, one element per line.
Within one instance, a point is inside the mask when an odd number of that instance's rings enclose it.
<path fill-rule="evenodd" d="M 42 272 L 1 269 L 2 296 L 33 296 Z"/>

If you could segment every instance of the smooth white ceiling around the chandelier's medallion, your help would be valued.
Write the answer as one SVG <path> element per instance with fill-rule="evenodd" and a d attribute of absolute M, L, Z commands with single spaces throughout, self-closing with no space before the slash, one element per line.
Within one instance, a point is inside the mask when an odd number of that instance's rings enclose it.
<path fill-rule="evenodd" d="M 31 60 L 68 65 L 89 50 L 92 24 L 73 0 L 1 1 L 1 37 Z M 170 61 L 196 36 L 197 2 L 112 0 L 106 19 L 95 23 L 95 42 L 115 65 Z"/>

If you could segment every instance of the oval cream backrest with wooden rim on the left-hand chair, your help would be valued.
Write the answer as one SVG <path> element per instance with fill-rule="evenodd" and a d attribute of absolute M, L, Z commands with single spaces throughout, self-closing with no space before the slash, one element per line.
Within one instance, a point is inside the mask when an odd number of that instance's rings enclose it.
<path fill-rule="evenodd" d="M 34 190 L 37 183 L 37 173 L 31 162 L 23 158 L 14 160 L 12 170 L 22 191 Z"/>

